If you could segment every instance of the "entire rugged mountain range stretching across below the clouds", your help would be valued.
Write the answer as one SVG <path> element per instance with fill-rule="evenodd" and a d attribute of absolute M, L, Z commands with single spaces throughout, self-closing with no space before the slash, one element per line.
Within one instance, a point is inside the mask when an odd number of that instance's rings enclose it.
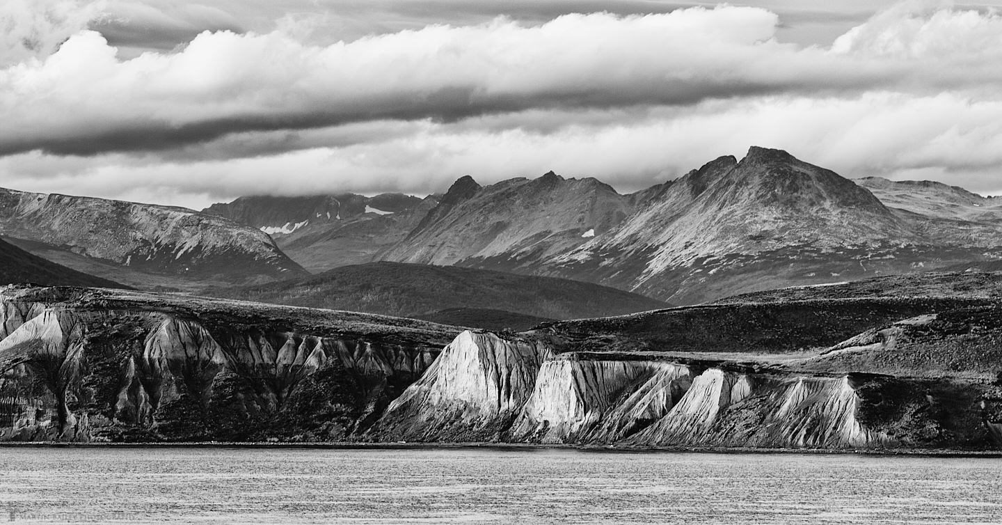
<path fill-rule="evenodd" d="M 246 196 L 200 212 L 14 190 L 0 201 L 0 234 L 23 249 L 128 286 L 188 292 L 383 260 L 687 305 L 1002 258 L 1000 199 L 938 182 L 852 180 L 762 147 L 628 194 L 548 172 L 486 186 L 464 176 L 423 198 Z"/>

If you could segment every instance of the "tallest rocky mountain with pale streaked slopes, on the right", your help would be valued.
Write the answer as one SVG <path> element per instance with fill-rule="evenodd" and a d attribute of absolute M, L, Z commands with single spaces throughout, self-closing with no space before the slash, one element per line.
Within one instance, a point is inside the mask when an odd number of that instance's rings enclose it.
<path fill-rule="evenodd" d="M 537 273 L 693 304 L 791 285 L 930 270 L 1002 253 L 1002 228 L 889 207 L 862 185 L 753 147 L 668 184 Z"/>

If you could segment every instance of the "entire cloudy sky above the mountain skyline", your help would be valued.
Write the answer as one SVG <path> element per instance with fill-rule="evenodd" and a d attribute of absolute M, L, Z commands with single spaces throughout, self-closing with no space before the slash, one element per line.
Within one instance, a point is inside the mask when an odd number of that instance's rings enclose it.
<path fill-rule="evenodd" d="M 1002 0 L 3 0 L 0 186 L 201 208 L 752 145 L 1002 194 Z"/>

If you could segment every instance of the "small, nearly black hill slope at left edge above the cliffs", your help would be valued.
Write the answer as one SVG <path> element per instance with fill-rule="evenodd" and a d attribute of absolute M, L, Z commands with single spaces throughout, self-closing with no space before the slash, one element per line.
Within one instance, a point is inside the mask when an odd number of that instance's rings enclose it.
<path fill-rule="evenodd" d="M 125 288 L 118 283 L 77 272 L 0 240 L 0 285 Z"/>

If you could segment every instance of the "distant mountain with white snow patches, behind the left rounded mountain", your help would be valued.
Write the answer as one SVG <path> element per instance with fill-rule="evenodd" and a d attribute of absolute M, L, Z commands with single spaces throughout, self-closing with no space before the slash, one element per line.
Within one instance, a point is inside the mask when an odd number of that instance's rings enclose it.
<path fill-rule="evenodd" d="M 259 228 L 307 270 L 324 272 L 372 261 L 437 203 L 402 193 L 246 196 L 203 211 Z"/>

